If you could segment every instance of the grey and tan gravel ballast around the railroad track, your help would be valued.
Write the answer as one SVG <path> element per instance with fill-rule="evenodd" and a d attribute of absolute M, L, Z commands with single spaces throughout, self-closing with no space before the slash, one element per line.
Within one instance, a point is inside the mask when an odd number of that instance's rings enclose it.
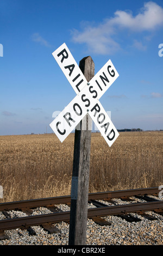
<path fill-rule="evenodd" d="M 101 201 L 102 202 L 102 201 Z M 126 204 L 120 199 L 115 199 L 117 204 Z M 103 202 L 106 204 L 106 202 Z M 131 202 L 129 202 L 131 203 Z M 93 205 L 88 205 L 88 208 Z M 94 206 L 95 207 L 95 206 Z M 67 205 L 58 205 L 62 211 L 69 211 Z M 49 214 L 46 208 L 36 208 L 32 215 Z M 117 216 L 103 217 L 111 225 L 101 226 L 91 219 L 87 220 L 86 245 L 163 245 L 163 216 L 153 211 L 146 212 L 148 215 L 156 217 L 157 220 L 131 214 L 141 219 L 140 222 L 128 222 Z M 12 218 L 27 216 L 21 211 L 9 211 Z M 0 212 L 0 220 L 5 216 Z M 8 239 L 0 240 L 0 245 L 68 245 L 69 224 L 65 222 L 54 224 L 59 229 L 59 233 L 48 234 L 48 231 L 41 226 L 32 227 L 35 235 L 30 235 L 24 229 L 6 230 L 5 235 Z"/>

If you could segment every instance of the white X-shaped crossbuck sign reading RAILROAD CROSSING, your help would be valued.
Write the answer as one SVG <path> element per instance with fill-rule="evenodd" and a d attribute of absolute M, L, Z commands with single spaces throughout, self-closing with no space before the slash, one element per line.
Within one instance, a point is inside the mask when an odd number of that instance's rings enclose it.
<path fill-rule="evenodd" d="M 63 142 L 88 113 L 111 147 L 119 133 L 99 102 L 100 97 L 119 76 L 111 60 L 88 83 L 65 43 L 52 54 L 77 93 L 77 96 L 52 121 L 50 124 L 52 130 Z"/>

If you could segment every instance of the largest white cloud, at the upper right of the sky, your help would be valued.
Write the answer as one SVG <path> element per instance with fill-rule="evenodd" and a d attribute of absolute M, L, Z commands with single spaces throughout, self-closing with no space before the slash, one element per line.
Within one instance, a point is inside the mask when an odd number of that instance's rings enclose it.
<path fill-rule="evenodd" d="M 97 26 L 85 23 L 82 32 L 74 29 L 72 39 L 74 42 L 85 43 L 89 51 L 98 54 L 111 54 L 121 49 L 117 41 L 118 32 L 126 29 L 130 32 L 152 32 L 163 25 L 163 8 L 154 2 L 144 4 L 136 16 L 131 11 L 117 10 L 115 16 L 105 19 Z M 116 40 L 114 39 L 116 35 Z M 146 40 L 149 36 L 146 36 Z M 146 46 L 135 40 L 133 46 L 138 50 L 146 50 Z"/>

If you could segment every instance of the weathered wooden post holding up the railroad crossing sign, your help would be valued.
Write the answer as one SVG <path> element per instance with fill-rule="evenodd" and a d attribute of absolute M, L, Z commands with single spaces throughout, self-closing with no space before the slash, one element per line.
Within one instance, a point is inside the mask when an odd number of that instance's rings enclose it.
<path fill-rule="evenodd" d="M 79 68 L 87 81 L 95 75 L 95 64 L 90 56 L 80 60 Z M 91 126 L 92 119 L 86 114 L 80 123 L 80 130 L 75 131 L 69 245 L 85 245 L 86 242 Z"/>

